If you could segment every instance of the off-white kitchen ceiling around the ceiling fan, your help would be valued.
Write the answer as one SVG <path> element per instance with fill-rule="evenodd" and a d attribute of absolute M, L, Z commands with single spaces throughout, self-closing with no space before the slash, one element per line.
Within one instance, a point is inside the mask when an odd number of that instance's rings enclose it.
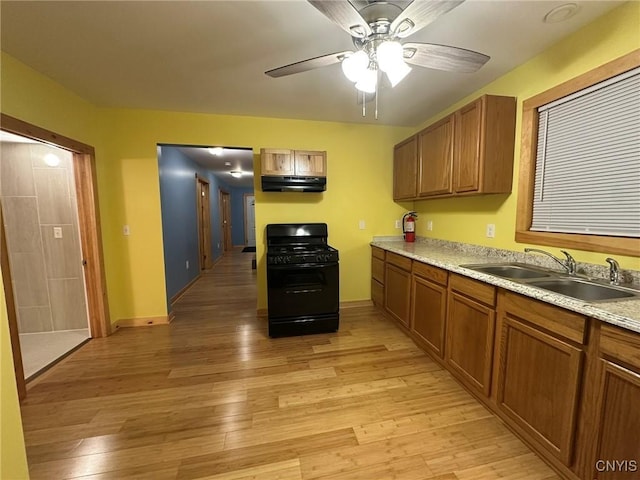
<path fill-rule="evenodd" d="M 362 117 L 337 64 L 282 78 L 264 74 L 353 49 L 347 33 L 303 0 L 2 0 L 0 45 L 104 107 L 416 126 L 622 2 L 576 1 L 575 17 L 543 23 L 563 3 L 467 0 L 409 36 L 491 60 L 474 74 L 414 67 L 394 89 L 383 88 L 377 121 L 370 110 Z"/>

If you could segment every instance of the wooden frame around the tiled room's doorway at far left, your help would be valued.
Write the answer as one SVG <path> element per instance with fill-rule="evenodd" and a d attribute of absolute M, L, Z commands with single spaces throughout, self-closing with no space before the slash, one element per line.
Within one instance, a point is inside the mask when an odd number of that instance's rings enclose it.
<path fill-rule="evenodd" d="M 2 130 L 7 132 L 63 148 L 72 153 L 89 328 L 93 338 L 110 335 L 111 321 L 98 209 L 95 149 L 90 145 L 31 125 L 4 113 L 0 113 L 0 126 Z M 3 268 L 2 273 L 5 285 L 10 283 L 11 279 L 7 276 L 10 272 L 5 274 Z M 9 308 L 9 301 L 7 301 L 7 308 Z M 15 345 L 12 341 L 12 348 L 19 349 L 19 344 Z"/>

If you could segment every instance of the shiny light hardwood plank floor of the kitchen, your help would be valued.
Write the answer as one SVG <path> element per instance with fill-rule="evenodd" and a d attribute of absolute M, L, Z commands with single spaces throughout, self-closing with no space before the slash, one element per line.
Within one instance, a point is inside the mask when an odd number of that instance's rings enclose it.
<path fill-rule="evenodd" d="M 373 307 L 269 339 L 252 256 L 219 262 L 171 325 L 91 340 L 29 386 L 32 479 L 558 478 Z"/>

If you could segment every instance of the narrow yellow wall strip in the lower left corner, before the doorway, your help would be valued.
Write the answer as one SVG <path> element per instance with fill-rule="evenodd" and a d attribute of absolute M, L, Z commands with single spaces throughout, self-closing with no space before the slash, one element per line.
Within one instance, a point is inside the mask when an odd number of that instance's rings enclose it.
<path fill-rule="evenodd" d="M 13 356 L 9 339 L 9 320 L 0 272 L 0 478 L 22 480 L 29 478 L 27 456 L 22 433 L 22 417 L 18 404 L 18 389 L 13 373 Z"/>

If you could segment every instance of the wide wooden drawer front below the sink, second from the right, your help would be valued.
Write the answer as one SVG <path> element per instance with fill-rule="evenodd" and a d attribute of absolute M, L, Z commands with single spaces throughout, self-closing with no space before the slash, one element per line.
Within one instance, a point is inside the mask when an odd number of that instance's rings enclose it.
<path fill-rule="evenodd" d="M 500 294 L 499 309 L 568 340 L 586 343 L 587 319 L 579 313 L 507 291 Z"/>

